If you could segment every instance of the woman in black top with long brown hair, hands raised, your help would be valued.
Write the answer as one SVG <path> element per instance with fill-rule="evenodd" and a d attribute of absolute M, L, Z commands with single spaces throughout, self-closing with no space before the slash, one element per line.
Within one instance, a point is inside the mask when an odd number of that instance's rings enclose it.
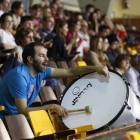
<path fill-rule="evenodd" d="M 68 33 L 68 24 L 66 21 L 60 21 L 55 26 L 56 36 L 53 39 L 53 45 L 48 49 L 48 56 L 54 58 L 56 61 L 70 60 L 68 51 L 71 50 L 73 41 L 66 45 L 65 36 Z M 68 50 L 68 51 L 67 51 Z"/>

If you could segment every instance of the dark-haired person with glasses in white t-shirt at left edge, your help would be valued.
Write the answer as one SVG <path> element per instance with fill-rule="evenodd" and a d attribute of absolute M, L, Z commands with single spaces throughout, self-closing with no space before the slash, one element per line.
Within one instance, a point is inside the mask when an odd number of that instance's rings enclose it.
<path fill-rule="evenodd" d="M 11 14 L 4 13 L 1 16 L 0 48 L 2 50 L 11 50 L 17 46 L 15 39 L 10 32 L 13 27 L 13 23 Z"/>

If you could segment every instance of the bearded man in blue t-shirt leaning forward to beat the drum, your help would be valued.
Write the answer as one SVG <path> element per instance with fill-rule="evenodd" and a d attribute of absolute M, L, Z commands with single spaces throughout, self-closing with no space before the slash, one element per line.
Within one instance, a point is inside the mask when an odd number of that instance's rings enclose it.
<path fill-rule="evenodd" d="M 107 68 L 103 66 L 70 69 L 47 67 L 46 49 L 37 42 L 26 45 L 22 57 L 24 64 L 12 69 L 0 81 L 0 106 L 5 106 L 5 110 L 0 112 L 0 118 L 18 113 L 27 116 L 29 111 L 35 110 L 55 110 L 60 116 L 65 116 L 67 110 L 56 104 L 30 107 L 40 91 L 43 79 L 76 76 L 92 71 L 108 75 Z"/>

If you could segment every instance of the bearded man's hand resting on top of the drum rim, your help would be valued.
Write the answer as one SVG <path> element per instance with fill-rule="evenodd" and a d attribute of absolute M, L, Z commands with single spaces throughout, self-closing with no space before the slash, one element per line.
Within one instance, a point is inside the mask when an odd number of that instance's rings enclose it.
<path fill-rule="evenodd" d="M 99 75 L 104 75 L 105 77 L 108 76 L 109 71 L 106 66 L 97 66 L 96 65 L 95 67 L 96 67 L 96 71 Z"/>

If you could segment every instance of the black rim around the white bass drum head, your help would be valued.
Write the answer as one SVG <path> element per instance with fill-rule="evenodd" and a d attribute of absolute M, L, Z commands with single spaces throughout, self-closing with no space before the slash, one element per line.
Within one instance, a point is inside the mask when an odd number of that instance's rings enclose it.
<path fill-rule="evenodd" d="M 109 70 L 109 72 L 112 72 L 112 73 L 117 74 L 117 75 L 120 76 L 120 77 L 122 78 L 122 80 L 123 80 L 123 76 L 120 75 L 118 72 L 116 72 L 116 71 L 114 71 L 114 70 L 111 70 L 111 69 L 108 69 L 108 70 Z M 71 87 L 71 85 L 73 85 L 73 84 L 74 84 L 77 80 L 79 80 L 80 78 L 82 78 L 82 77 L 84 77 L 84 76 L 86 76 L 86 75 L 88 75 L 88 74 L 90 74 L 90 73 L 95 73 L 95 71 L 89 72 L 89 73 L 85 73 L 85 74 L 82 74 L 82 75 L 79 75 L 79 76 L 77 76 L 74 80 L 72 80 L 72 81 L 67 85 L 67 87 L 64 89 L 63 93 L 61 94 L 61 96 L 60 96 L 60 98 L 59 98 L 59 105 L 61 105 L 62 100 L 63 100 L 63 98 L 64 98 L 64 96 L 65 96 L 67 90 Z M 125 85 L 126 85 L 126 89 L 127 89 L 125 101 L 128 101 L 128 98 L 129 98 L 128 83 L 127 83 L 125 80 L 123 80 L 123 81 L 124 81 L 124 83 L 125 83 Z M 103 125 L 102 127 L 98 128 L 98 129 L 96 129 L 96 130 L 93 129 L 93 130 L 87 131 L 87 134 L 92 134 L 92 133 L 99 132 L 99 131 L 105 129 L 106 127 L 108 127 L 109 125 L 111 125 L 112 123 L 114 123 L 114 122 L 120 117 L 120 115 L 123 113 L 125 107 L 126 107 L 126 105 L 123 104 L 123 106 L 122 106 L 122 108 L 120 109 L 120 111 L 118 112 L 118 114 L 117 114 L 110 122 L 108 122 L 106 125 Z M 62 122 L 62 124 L 63 124 L 66 128 L 69 129 L 69 127 L 65 125 L 65 123 L 63 122 L 63 119 L 62 119 L 61 117 L 60 117 L 60 121 Z"/>

